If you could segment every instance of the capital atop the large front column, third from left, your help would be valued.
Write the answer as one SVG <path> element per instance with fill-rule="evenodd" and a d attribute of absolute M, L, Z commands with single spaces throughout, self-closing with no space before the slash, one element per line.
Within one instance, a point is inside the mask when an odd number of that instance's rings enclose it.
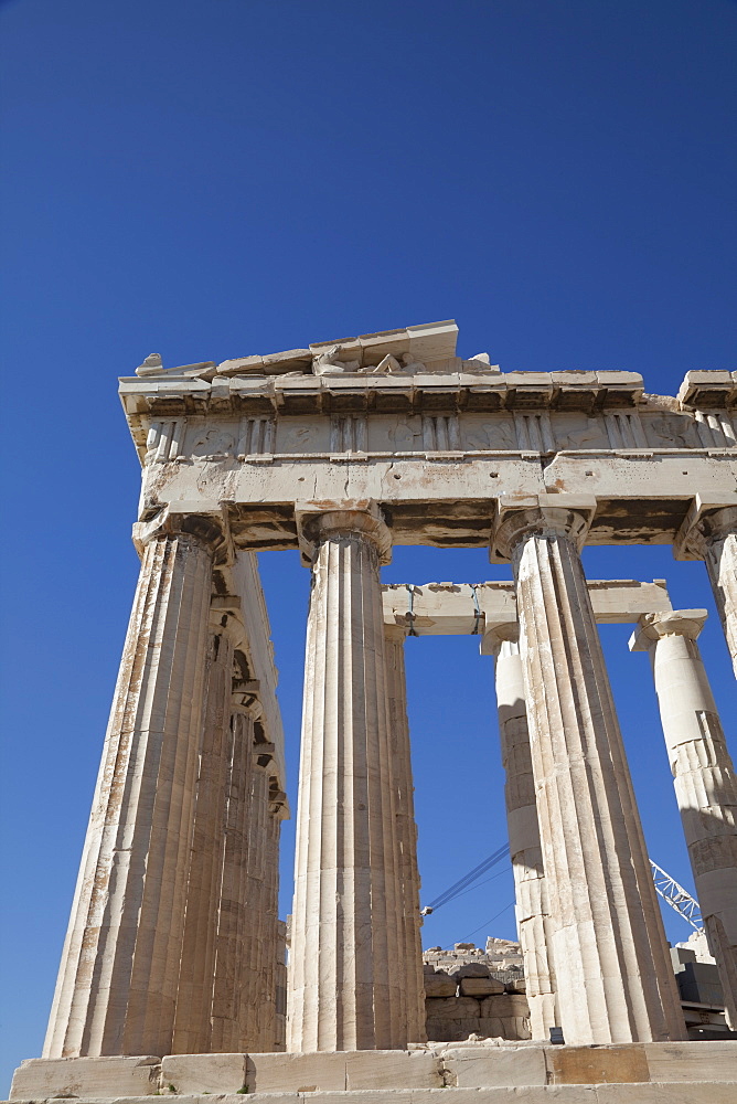
<path fill-rule="evenodd" d="M 564 537 L 580 552 L 588 534 L 596 499 L 588 495 L 532 495 L 500 499 L 492 526 L 489 559 L 503 563 L 527 535 Z"/>

